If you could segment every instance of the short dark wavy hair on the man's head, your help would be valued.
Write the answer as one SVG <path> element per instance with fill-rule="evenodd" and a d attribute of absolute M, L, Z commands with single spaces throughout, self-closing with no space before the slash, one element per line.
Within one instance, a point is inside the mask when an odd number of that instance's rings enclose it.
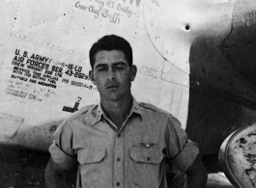
<path fill-rule="evenodd" d="M 95 65 L 95 55 L 101 50 L 122 51 L 125 54 L 126 60 L 128 61 L 128 66 L 129 67 L 132 66 L 132 49 L 127 40 L 115 35 L 111 35 L 111 36 L 104 36 L 100 40 L 95 42 L 89 53 L 90 64 L 92 68 L 94 68 L 94 65 Z"/>

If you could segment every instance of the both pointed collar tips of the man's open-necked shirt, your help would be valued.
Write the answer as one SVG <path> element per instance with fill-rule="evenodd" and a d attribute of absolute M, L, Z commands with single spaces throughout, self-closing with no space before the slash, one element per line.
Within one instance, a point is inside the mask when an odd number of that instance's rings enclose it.
<path fill-rule="evenodd" d="M 100 103 L 97 105 L 97 108 L 95 108 L 93 111 L 94 111 L 93 113 L 96 116 L 95 116 L 95 120 L 92 122 L 92 124 L 95 124 L 98 121 L 100 121 L 102 117 L 104 117 L 104 119 L 108 120 L 104 111 L 101 108 Z M 141 107 L 140 107 L 139 103 L 135 100 L 135 98 L 132 96 L 132 106 L 131 106 L 130 113 L 129 113 L 128 117 L 131 116 L 133 113 L 138 114 L 142 118 Z"/>

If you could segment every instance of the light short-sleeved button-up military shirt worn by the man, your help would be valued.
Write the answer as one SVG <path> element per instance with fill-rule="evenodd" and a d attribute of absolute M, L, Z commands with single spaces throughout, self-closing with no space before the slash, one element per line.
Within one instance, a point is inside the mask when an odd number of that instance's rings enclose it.
<path fill-rule="evenodd" d="M 166 157 L 185 172 L 199 152 L 177 119 L 134 98 L 120 130 L 100 105 L 86 106 L 58 127 L 49 151 L 63 169 L 79 162 L 79 188 L 167 188 Z"/>

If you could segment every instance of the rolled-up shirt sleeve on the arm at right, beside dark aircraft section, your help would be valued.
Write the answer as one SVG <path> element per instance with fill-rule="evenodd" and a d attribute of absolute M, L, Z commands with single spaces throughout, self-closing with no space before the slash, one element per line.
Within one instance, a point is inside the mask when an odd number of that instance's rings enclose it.
<path fill-rule="evenodd" d="M 167 146 L 167 156 L 176 169 L 185 172 L 199 154 L 197 145 L 187 139 L 180 121 L 173 117 L 167 121 L 164 138 Z"/>

